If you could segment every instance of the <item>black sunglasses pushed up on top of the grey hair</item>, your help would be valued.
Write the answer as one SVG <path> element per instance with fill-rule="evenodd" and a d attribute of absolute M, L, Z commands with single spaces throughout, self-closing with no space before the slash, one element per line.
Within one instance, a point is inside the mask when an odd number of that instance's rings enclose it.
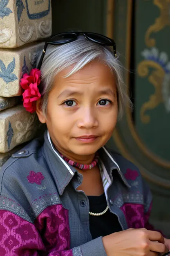
<path fill-rule="evenodd" d="M 111 39 L 109 37 L 105 37 L 102 34 L 91 33 L 91 32 L 65 32 L 65 33 L 59 33 L 56 35 L 52 35 L 45 42 L 45 45 L 44 45 L 44 48 L 42 51 L 42 55 L 40 57 L 40 61 L 38 63 L 37 68 L 40 69 L 40 67 L 42 65 L 42 60 L 45 55 L 45 51 L 49 44 L 60 45 L 60 44 L 65 44 L 65 43 L 71 43 L 71 42 L 75 41 L 79 35 L 83 35 L 85 37 L 85 39 L 95 42 L 95 43 L 99 43 L 103 46 L 113 46 L 114 57 L 117 56 L 116 55 L 116 43 L 114 42 L 113 39 Z"/>

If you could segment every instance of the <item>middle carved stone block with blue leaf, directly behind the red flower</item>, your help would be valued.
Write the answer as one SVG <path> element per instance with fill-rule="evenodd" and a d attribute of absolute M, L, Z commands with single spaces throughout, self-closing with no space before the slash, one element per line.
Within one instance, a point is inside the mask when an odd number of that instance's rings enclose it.
<path fill-rule="evenodd" d="M 43 46 L 44 42 L 31 43 L 17 49 L 0 48 L 1 97 L 13 97 L 22 94 L 20 78 L 23 73 L 29 73 L 35 67 Z"/>

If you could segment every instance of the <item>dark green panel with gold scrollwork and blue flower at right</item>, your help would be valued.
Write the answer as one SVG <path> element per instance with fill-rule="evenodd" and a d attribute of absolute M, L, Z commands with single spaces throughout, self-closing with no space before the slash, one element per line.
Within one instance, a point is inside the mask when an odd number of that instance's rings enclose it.
<path fill-rule="evenodd" d="M 160 76 L 159 70 L 164 69 L 165 75 L 168 74 L 168 72 L 170 73 L 170 69 L 169 71 L 166 70 L 168 59 L 170 61 L 170 26 L 165 25 L 160 29 L 160 31 L 155 31 L 150 34 L 150 38 L 152 37 L 155 39 L 154 46 L 148 46 L 147 41 L 145 41 L 145 34 L 148 28 L 155 23 L 156 19 L 159 18 L 160 15 L 161 10 L 154 5 L 153 1 L 136 1 L 135 127 L 139 137 L 143 141 L 143 144 L 145 144 L 145 146 L 155 154 L 155 158 L 159 156 L 163 160 L 170 161 L 170 110 L 166 110 L 163 100 L 161 100 L 161 102 L 158 104 L 157 98 L 155 98 L 152 102 L 150 101 L 150 97 L 154 97 L 152 95 L 154 95 L 156 88 L 155 85 L 149 81 L 149 75 L 151 75 L 152 79 L 156 80 L 157 87 L 159 87 L 158 98 L 162 98 L 163 80 L 165 77 L 162 78 Z M 165 20 L 165 18 L 166 17 L 163 17 L 162 19 Z M 161 27 L 161 22 L 158 22 L 157 27 Z M 146 49 L 148 52 L 146 52 Z M 145 57 L 149 59 L 148 64 L 142 55 L 144 50 L 145 55 L 147 55 Z M 137 70 L 137 67 L 139 67 L 139 65 L 142 63 L 143 67 L 148 69 L 148 75 L 146 77 L 142 77 Z M 156 69 L 154 64 L 158 65 Z M 155 74 L 153 73 L 154 71 L 156 71 Z M 167 87 L 170 94 L 170 80 Z M 144 117 L 141 117 L 141 108 L 143 104 L 147 102 L 150 102 L 149 104 L 151 105 L 151 109 L 146 109 L 144 116 L 148 115 L 150 121 L 145 122 Z"/>

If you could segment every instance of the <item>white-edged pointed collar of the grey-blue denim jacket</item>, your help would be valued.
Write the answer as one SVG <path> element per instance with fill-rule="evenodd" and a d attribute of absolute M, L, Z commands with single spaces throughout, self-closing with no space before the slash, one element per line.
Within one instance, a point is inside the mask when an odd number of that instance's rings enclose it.
<path fill-rule="evenodd" d="M 48 131 L 45 131 L 44 139 L 45 142 L 43 146 L 43 151 L 45 154 L 45 159 L 47 161 L 51 174 L 56 180 L 58 192 L 60 195 L 62 195 L 65 187 L 69 184 L 74 175 L 77 173 L 77 170 L 73 166 L 68 165 L 67 162 L 63 160 L 63 158 L 61 158 L 60 154 L 55 149 L 54 144 L 51 141 Z M 121 172 L 118 163 L 114 158 L 114 154 L 109 152 L 109 150 L 106 149 L 104 146 L 99 150 L 99 154 L 110 178 L 112 176 L 112 171 L 116 169 L 123 183 L 126 186 L 130 187 L 127 180 L 125 179 L 125 176 Z"/>

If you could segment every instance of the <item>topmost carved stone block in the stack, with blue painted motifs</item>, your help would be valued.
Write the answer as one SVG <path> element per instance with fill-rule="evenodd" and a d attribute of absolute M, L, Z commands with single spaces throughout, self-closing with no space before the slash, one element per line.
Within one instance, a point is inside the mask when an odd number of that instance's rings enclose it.
<path fill-rule="evenodd" d="M 49 37 L 51 30 L 51 0 L 0 1 L 0 48 Z"/>

